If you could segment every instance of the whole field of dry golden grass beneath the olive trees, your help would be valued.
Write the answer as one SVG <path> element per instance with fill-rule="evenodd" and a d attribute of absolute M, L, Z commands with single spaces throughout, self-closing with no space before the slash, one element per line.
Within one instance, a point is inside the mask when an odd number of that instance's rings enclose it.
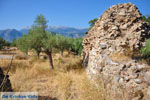
<path fill-rule="evenodd" d="M 43 58 L 30 55 L 27 59 L 16 57 L 13 60 L 9 72 L 13 91 L 36 91 L 40 100 L 105 100 L 103 85 L 95 87 L 88 80 L 79 56 L 67 55 L 67 52 L 64 57 L 53 54 L 54 70 L 49 69 L 48 59 Z M 9 63 L 8 59 L 0 60 L 4 71 Z"/>

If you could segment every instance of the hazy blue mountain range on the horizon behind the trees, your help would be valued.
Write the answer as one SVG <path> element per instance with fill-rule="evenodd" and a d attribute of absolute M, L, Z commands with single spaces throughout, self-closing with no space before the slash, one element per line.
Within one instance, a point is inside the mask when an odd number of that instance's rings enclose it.
<path fill-rule="evenodd" d="M 0 37 L 6 41 L 13 41 L 15 38 L 21 37 L 23 34 L 27 34 L 31 27 L 26 27 L 21 30 L 16 29 L 5 29 L 0 30 Z M 85 35 L 85 32 L 88 31 L 88 28 L 74 28 L 66 26 L 48 26 L 47 31 L 56 32 L 66 37 L 79 38 Z"/>

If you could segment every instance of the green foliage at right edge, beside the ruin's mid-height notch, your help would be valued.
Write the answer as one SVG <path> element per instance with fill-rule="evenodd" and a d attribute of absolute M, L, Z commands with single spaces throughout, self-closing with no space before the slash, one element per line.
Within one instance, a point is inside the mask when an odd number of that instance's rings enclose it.
<path fill-rule="evenodd" d="M 150 39 L 146 40 L 146 45 L 141 48 L 140 52 L 144 58 L 150 57 Z"/>

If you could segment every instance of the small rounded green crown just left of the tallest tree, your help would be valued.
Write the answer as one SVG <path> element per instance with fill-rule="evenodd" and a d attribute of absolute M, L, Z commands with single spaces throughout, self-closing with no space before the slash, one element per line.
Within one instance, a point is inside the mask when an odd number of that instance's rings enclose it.
<path fill-rule="evenodd" d="M 26 54 L 28 54 L 28 50 L 30 49 L 29 43 L 28 35 L 23 35 L 16 41 L 17 47 Z"/>

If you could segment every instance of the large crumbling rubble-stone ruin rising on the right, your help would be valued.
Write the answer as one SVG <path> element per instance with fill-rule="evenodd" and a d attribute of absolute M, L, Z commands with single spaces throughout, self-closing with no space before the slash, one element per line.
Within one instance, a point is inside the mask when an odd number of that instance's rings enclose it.
<path fill-rule="evenodd" d="M 131 3 L 107 9 L 87 32 L 83 65 L 90 79 L 103 80 L 111 100 L 150 100 L 150 66 L 136 57 L 149 37 L 150 27 Z"/>

